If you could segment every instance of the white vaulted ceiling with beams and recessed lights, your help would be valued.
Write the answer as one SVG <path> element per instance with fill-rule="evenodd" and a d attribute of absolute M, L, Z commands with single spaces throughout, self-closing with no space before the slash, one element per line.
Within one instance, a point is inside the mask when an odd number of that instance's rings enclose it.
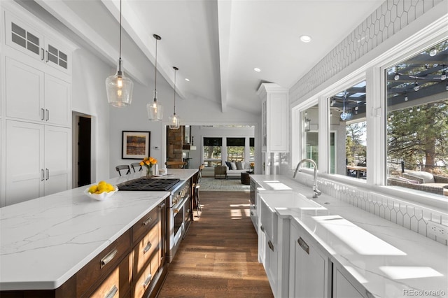
<path fill-rule="evenodd" d="M 116 65 L 120 1 L 35 1 Z M 223 112 L 232 107 L 256 115 L 260 83 L 292 87 L 382 2 L 123 0 L 125 71 L 153 87 L 153 34 L 158 34 L 158 71 L 174 87 L 172 66 L 179 67 L 181 99 L 205 99 Z M 311 42 L 300 41 L 303 35 Z"/>

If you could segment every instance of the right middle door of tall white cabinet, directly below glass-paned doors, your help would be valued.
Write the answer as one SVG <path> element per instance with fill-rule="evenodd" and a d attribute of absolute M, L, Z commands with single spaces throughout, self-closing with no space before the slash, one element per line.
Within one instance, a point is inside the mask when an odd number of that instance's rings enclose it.
<path fill-rule="evenodd" d="M 69 126 L 70 84 L 45 74 L 45 122 Z"/>

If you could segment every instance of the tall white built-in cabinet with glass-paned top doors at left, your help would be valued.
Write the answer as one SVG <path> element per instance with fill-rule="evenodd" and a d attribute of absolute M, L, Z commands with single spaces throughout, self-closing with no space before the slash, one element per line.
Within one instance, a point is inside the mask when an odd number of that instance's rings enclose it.
<path fill-rule="evenodd" d="M 73 45 L 27 10 L 1 4 L 0 206 L 71 187 Z"/>

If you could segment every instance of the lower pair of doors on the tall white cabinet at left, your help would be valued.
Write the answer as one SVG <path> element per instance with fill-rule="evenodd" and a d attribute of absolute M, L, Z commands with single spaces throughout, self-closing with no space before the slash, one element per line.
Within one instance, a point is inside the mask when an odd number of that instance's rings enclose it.
<path fill-rule="evenodd" d="M 6 121 L 6 205 L 69 188 L 71 132 Z"/>

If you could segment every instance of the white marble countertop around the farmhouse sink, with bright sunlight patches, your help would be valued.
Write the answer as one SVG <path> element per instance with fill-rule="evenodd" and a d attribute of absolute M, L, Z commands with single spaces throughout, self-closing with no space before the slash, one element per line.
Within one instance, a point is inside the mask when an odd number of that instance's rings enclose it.
<path fill-rule="evenodd" d="M 285 176 L 251 177 L 260 185 L 264 183 L 267 190 L 269 185 L 263 181 L 278 180 L 294 192 L 307 197 L 312 194 L 311 187 Z M 262 194 L 265 196 L 275 194 Z M 374 297 L 412 296 L 410 292 L 406 295 L 409 290 L 423 291 L 419 297 L 448 297 L 447 246 L 326 194 L 314 201 L 327 208 L 330 215 L 313 216 L 287 209 L 276 212 L 302 225 L 351 283 L 358 283 Z"/>

